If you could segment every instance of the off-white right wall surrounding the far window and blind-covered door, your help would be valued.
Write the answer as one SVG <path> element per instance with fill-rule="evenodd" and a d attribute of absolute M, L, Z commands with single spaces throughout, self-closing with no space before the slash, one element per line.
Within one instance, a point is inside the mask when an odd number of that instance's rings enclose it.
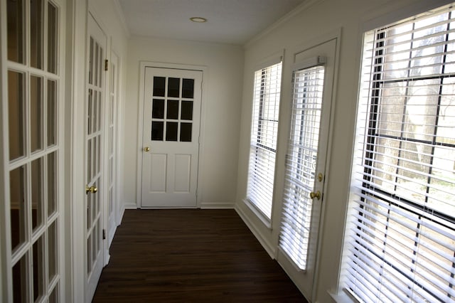
<path fill-rule="evenodd" d="M 279 214 L 282 207 L 284 179 L 284 154 L 287 148 L 290 117 L 291 63 L 295 50 L 314 46 L 315 39 L 328 33 L 340 31 L 341 44 L 338 61 L 338 85 L 335 87 L 335 111 L 331 137 L 330 170 L 326 175 L 324 192 L 325 211 L 322 214 L 319 251 L 319 276 L 316 277 L 316 302 L 331 302 L 328 292 L 338 287 L 338 272 L 341 262 L 343 228 L 346 217 L 350 181 L 350 161 L 353 149 L 356 117 L 357 91 L 360 66 L 360 51 L 365 29 L 385 25 L 419 11 L 441 5 L 444 1 L 365 1 L 365 0 L 314 0 L 294 11 L 286 21 L 277 23 L 268 31 L 247 43 L 245 48 L 245 80 L 242 101 L 241 129 L 249 129 L 252 107 L 252 80 L 255 64 L 271 53 L 284 48 L 282 105 L 277 151 L 277 186 L 274 195 L 272 229 L 250 211 L 243 199 L 246 196 L 247 164 L 250 134 L 240 134 L 239 169 L 237 180 L 237 211 L 257 235 L 271 255 L 276 253 Z M 311 5 L 310 5 L 311 4 Z M 429 7 L 430 6 L 430 7 Z M 286 87 L 289 87 L 286 90 Z M 303 273 L 299 275 L 304 275 Z M 294 278 L 298 284 L 299 276 Z"/>

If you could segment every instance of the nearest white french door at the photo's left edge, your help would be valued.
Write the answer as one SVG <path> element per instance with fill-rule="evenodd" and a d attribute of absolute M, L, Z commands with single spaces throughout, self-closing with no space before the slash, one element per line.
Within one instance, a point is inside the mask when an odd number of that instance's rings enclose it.
<path fill-rule="evenodd" d="M 1 0 L 1 302 L 62 302 L 64 1 Z"/>

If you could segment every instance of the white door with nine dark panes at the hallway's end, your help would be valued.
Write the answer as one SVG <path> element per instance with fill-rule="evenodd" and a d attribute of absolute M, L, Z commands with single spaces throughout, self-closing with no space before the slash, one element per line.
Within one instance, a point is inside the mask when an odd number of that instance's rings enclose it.
<path fill-rule="evenodd" d="M 141 207 L 196 207 L 202 72 L 144 74 Z"/>

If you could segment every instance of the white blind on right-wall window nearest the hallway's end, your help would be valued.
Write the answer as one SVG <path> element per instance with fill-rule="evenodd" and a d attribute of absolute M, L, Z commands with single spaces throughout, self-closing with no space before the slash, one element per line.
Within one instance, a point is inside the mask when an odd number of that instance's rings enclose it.
<path fill-rule="evenodd" d="M 255 72 L 247 200 L 272 216 L 282 63 Z"/>

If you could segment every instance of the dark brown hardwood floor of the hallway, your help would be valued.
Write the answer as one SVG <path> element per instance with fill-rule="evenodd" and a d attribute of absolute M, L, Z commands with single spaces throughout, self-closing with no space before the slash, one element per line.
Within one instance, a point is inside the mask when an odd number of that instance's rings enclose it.
<path fill-rule="evenodd" d="M 129 210 L 93 302 L 306 302 L 233 210 Z"/>

